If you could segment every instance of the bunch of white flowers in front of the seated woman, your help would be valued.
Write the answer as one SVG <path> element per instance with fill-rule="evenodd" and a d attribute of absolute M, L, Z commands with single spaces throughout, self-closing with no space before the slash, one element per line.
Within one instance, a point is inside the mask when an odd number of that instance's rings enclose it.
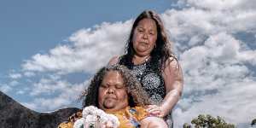
<path fill-rule="evenodd" d="M 108 114 L 94 106 L 89 106 L 83 110 L 83 118 L 75 121 L 73 128 L 104 128 L 119 127 L 119 119 L 113 114 Z"/>

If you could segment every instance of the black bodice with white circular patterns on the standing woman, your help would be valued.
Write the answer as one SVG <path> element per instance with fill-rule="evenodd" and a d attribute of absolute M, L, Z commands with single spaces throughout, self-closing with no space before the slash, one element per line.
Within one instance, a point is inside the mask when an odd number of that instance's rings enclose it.
<path fill-rule="evenodd" d="M 143 85 L 143 89 L 148 92 L 151 101 L 155 104 L 159 104 L 166 96 L 164 80 L 160 73 L 156 73 L 147 67 L 147 65 L 148 61 L 140 65 L 134 65 L 131 68 L 131 72 Z"/>

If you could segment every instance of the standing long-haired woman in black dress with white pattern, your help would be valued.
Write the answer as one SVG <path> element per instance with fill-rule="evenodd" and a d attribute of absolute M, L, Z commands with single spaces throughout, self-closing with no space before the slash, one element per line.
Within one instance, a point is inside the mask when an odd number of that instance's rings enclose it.
<path fill-rule="evenodd" d="M 148 112 L 165 118 L 172 128 L 172 108 L 182 95 L 183 73 L 159 15 L 152 10 L 138 15 L 125 55 L 113 57 L 108 64 L 115 63 L 131 69 L 152 101 Z"/>

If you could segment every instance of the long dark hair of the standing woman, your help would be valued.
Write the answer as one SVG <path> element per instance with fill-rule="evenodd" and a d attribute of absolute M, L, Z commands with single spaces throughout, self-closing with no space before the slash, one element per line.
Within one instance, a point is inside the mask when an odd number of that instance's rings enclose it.
<path fill-rule="evenodd" d="M 134 21 L 131 27 L 130 37 L 125 44 L 125 55 L 121 56 L 119 64 L 125 65 L 130 69 L 133 67 L 132 57 L 135 55 L 136 51 L 133 48 L 132 38 L 139 21 L 145 18 L 154 20 L 157 27 L 157 39 L 155 42 L 156 46 L 150 53 L 150 64 L 153 64 L 150 68 L 160 72 L 160 69 L 165 67 L 164 63 L 169 57 L 173 57 L 175 59 L 176 57 L 172 54 L 171 42 L 167 38 L 163 22 L 160 20 L 160 16 L 157 15 L 157 13 L 155 13 L 153 10 L 144 10 L 142 14 L 137 16 L 137 19 Z"/>

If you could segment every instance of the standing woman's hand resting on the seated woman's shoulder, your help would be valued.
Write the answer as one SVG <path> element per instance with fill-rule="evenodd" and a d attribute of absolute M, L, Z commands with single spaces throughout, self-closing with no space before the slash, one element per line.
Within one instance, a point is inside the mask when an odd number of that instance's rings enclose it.
<path fill-rule="evenodd" d="M 149 114 L 163 118 L 165 116 L 164 111 L 158 105 L 148 105 L 147 111 Z"/>

